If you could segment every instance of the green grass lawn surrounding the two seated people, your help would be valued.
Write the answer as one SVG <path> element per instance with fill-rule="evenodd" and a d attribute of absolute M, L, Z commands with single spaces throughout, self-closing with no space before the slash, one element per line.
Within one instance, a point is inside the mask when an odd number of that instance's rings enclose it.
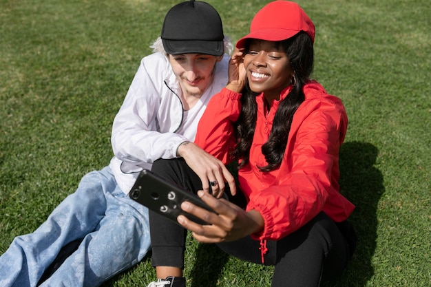
<path fill-rule="evenodd" d="M 178 1 L 0 0 L 0 253 L 112 157 L 112 120 Z M 266 1 L 210 1 L 246 34 Z M 341 191 L 357 253 L 324 286 L 431 286 L 431 6 L 299 1 L 316 25 L 313 77 L 349 116 Z M 271 267 L 189 237 L 189 286 L 270 286 Z M 147 257 L 103 286 L 147 286 Z"/>

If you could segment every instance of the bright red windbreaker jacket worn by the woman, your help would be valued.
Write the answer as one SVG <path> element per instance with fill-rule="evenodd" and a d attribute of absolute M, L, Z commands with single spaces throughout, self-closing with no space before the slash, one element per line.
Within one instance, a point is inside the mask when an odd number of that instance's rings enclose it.
<path fill-rule="evenodd" d="M 280 100 L 291 87 L 284 89 Z M 293 116 L 284 158 L 279 169 L 262 172 L 266 166 L 261 147 L 268 140 L 280 100 L 273 100 L 264 113 L 264 96 L 257 101 L 257 123 L 249 164 L 238 171 L 240 190 L 246 195 L 246 210 L 264 217 L 264 229 L 255 240 L 278 240 L 324 211 L 335 222 L 347 219 L 355 206 L 339 193 L 339 146 L 347 129 L 341 100 L 311 81 L 304 86 L 305 100 Z M 235 147 L 233 123 L 241 109 L 241 94 L 222 91 L 211 98 L 198 125 L 196 144 L 222 160 L 231 161 Z"/>

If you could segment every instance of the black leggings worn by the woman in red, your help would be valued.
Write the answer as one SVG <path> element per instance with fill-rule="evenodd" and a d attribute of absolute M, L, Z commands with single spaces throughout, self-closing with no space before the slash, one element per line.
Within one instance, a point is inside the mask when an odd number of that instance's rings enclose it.
<path fill-rule="evenodd" d="M 200 178 L 182 159 L 157 160 L 152 171 L 193 193 L 202 189 Z M 229 196 L 229 200 L 240 206 L 243 204 L 243 198 L 238 196 Z M 151 211 L 149 223 L 151 264 L 183 268 L 187 230 Z M 350 223 L 343 222 L 346 224 Z M 349 233 L 354 232 L 353 228 L 347 229 Z M 319 286 L 322 277 L 330 279 L 341 273 L 353 252 L 346 238 L 355 238 L 355 235 L 340 230 L 328 215 L 321 212 L 294 233 L 277 241 L 268 240 L 264 264 L 275 266 L 272 286 Z M 350 242 L 350 247 L 354 243 Z M 260 242 L 250 236 L 217 245 L 229 255 L 262 264 Z"/>

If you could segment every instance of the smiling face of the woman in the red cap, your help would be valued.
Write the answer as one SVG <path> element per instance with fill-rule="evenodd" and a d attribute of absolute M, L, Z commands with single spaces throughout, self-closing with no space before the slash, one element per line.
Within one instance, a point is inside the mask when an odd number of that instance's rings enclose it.
<path fill-rule="evenodd" d="M 253 92 L 264 93 L 266 100 L 280 99 L 282 89 L 290 85 L 293 71 L 279 42 L 252 39 L 244 55 L 244 67 Z"/>

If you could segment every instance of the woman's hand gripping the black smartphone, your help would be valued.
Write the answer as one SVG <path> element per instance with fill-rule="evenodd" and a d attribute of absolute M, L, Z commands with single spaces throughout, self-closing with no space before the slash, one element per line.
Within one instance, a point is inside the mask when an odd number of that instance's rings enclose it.
<path fill-rule="evenodd" d="M 178 223 L 189 229 L 198 242 L 230 242 L 262 230 L 264 220 L 259 212 L 244 211 L 227 200 L 214 198 L 203 191 L 198 191 L 198 195 L 217 214 L 190 202 L 182 202 L 181 209 L 199 217 L 208 225 L 197 224 L 185 215 L 179 215 L 177 218 Z"/>

